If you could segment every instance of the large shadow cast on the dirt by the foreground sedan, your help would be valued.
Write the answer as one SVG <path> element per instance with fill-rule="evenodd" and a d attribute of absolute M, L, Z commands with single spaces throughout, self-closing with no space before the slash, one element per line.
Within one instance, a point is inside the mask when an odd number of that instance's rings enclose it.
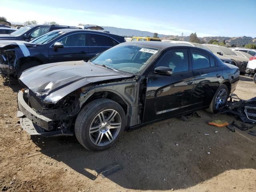
<path fill-rule="evenodd" d="M 40 152 L 90 180 L 101 178 L 96 176 L 97 170 L 120 164 L 123 169 L 106 177 L 127 189 L 184 189 L 226 170 L 256 169 L 254 160 L 245 155 L 256 151 L 252 141 L 226 128 L 209 126 L 210 118 L 208 114 L 190 121 L 172 118 L 125 132 L 112 148 L 102 152 L 86 150 L 75 137 L 31 139 Z M 228 121 L 232 122 L 232 117 Z"/>

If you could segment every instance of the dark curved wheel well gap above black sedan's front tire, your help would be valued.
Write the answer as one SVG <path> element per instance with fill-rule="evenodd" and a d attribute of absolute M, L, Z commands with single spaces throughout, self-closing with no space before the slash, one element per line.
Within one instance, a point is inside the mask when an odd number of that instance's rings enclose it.
<path fill-rule="evenodd" d="M 84 107 L 86 104 L 88 104 L 92 100 L 99 99 L 99 98 L 106 98 L 106 99 L 113 100 L 114 102 L 117 102 L 118 104 L 120 104 L 120 106 L 122 106 L 125 114 L 127 114 L 127 108 L 128 108 L 127 104 L 118 94 L 110 91 L 95 92 L 92 96 L 90 96 L 90 98 L 88 98 L 88 100 L 86 100 L 86 102 L 83 104 L 82 107 Z"/>

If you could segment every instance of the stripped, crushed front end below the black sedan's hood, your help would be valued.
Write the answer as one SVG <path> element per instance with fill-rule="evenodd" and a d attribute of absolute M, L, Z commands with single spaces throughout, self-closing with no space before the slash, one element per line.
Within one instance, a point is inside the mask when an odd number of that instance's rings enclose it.
<path fill-rule="evenodd" d="M 74 117 L 79 111 L 76 92 L 57 104 L 45 104 L 29 89 L 18 92 L 20 124 L 30 135 L 73 135 Z"/>

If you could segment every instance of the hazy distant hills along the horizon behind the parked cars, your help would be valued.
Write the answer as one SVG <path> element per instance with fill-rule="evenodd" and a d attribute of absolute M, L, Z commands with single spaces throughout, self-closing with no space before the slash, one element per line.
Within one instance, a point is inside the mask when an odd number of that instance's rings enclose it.
<path fill-rule="evenodd" d="M 102 26 L 104 30 L 109 31 L 112 34 L 117 34 L 120 36 L 150 36 L 153 37 L 154 33 L 153 32 L 148 32 L 148 31 L 140 31 L 140 30 L 135 30 L 135 29 L 124 29 L 124 28 L 117 28 L 117 27 L 109 27 L 109 26 Z M 157 32 L 157 31 L 156 31 Z M 164 34 L 158 34 L 159 38 L 166 39 L 166 40 L 180 40 L 181 36 L 177 35 L 164 35 Z M 256 37 L 225 37 L 225 36 L 209 36 L 209 37 L 200 37 L 199 38 L 201 42 L 209 42 L 211 39 L 216 39 L 219 42 L 225 40 L 226 44 L 229 45 L 245 45 L 245 44 L 256 44 Z M 183 36 L 182 37 L 183 41 L 188 41 L 189 36 Z"/>

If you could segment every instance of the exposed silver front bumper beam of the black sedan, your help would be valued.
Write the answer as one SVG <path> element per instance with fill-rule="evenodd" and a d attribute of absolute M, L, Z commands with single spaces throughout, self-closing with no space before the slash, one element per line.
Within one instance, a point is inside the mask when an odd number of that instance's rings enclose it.
<path fill-rule="evenodd" d="M 19 111 L 22 112 L 24 116 L 26 116 L 27 120 L 30 120 L 32 124 L 35 124 L 46 130 L 52 130 L 54 128 L 54 120 L 38 114 L 36 111 L 30 108 L 30 106 L 28 106 L 28 104 L 24 100 L 22 91 L 18 92 L 17 98 Z"/>

